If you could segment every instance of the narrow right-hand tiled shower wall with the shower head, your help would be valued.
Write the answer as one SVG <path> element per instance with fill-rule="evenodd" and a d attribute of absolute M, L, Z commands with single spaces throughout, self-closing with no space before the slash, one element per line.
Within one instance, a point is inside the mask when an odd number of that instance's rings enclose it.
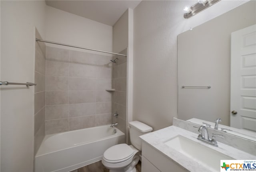
<path fill-rule="evenodd" d="M 127 48 L 120 52 L 127 54 Z M 118 112 L 117 128 L 126 133 L 126 84 L 127 84 L 127 58 L 125 56 L 114 56 L 118 58 L 112 66 L 112 86 L 116 89 L 113 93 L 112 112 Z"/>

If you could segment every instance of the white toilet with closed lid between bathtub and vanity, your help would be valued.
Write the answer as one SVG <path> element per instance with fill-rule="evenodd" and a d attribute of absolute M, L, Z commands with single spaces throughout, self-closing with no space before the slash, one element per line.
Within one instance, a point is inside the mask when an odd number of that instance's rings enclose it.
<path fill-rule="evenodd" d="M 103 154 L 102 164 L 109 172 L 136 172 L 142 146 L 139 136 L 152 132 L 153 128 L 139 121 L 129 122 L 129 128 L 132 145 L 117 144 Z"/>

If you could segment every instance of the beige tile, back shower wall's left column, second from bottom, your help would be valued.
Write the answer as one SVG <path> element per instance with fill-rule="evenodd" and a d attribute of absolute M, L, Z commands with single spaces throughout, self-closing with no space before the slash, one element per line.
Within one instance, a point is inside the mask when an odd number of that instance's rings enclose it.
<path fill-rule="evenodd" d="M 68 105 L 45 106 L 45 119 L 54 120 L 68 118 Z"/>

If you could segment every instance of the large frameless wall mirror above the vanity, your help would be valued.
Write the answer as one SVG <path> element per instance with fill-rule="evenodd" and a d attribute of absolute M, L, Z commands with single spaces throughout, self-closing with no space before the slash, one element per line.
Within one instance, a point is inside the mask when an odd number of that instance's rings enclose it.
<path fill-rule="evenodd" d="M 255 24 L 252 0 L 178 35 L 179 119 L 256 141 Z"/>

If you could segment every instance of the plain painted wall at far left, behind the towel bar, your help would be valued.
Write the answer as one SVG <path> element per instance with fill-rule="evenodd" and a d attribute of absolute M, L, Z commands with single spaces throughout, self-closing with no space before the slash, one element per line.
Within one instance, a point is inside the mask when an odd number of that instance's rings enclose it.
<path fill-rule="evenodd" d="M 34 82 L 35 26 L 44 38 L 45 1 L 0 1 L 1 80 Z M 34 86 L 1 86 L 1 171 L 31 172 Z"/>

